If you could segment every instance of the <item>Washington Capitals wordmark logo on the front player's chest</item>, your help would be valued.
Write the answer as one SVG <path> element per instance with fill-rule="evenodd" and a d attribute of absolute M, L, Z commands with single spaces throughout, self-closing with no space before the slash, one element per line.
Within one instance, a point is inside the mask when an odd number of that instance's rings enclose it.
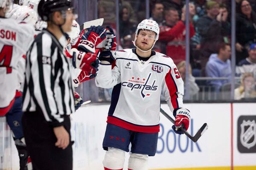
<path fill-rule="evenodd" d="M 131 79 L 128 79 L 128 82 L 122 82 L 122 86 L 124 88 L 129 88 L 131 91 L 140 91 L 140 96 L 144 100 L 146 97 L 150 96 L 149 92 L 157 91 L 158 85 L 155 84 L 156 80 L 153 80 L 153 83 L 149 84 L 150 77 L 151 73 L 148 75 L 147 79 L 131 77 Z"/>

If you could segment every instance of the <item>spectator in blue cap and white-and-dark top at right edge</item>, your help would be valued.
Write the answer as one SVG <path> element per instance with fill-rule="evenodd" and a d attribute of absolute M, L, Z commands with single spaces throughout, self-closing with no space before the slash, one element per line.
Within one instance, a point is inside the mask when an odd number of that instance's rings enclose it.
<path fill-rule="evenodd" d="M 249 56 L 236 66 L 236 74 L 253 73 L 256 77 L 256 43 L 250 45 Z"/>

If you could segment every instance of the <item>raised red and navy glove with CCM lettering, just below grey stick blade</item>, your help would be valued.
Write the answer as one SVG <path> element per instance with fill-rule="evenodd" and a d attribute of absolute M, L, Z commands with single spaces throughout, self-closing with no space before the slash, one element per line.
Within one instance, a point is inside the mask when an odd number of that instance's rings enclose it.
<path fill-rule="evenodd" d="M 91 26 L 81 36 L 80 43 L 84 42 L 84 41 L 86 41 L 87 43 L 91 42 L 90 43 L 90 47 L 91 48 L 95 48 L 95 47 L 99 48 L 100 46 L 102 46 L 102 42 L 105 39 L 107 39 L 105 31 L 106 31 L 105 27 L 102 27 L 102 26 L 97 26 L 97 27 L 96 26 Z M 80 48 L 82 48 L 82 49 L 86 48 L 87 49 L 87 46 L 85 47 L 84 45 L 82 45 L 80 43 L 78 45 L 78 50 L 80 50 Z M 94 52 L 94 51 L 91 51 L 91 52 Z"/>

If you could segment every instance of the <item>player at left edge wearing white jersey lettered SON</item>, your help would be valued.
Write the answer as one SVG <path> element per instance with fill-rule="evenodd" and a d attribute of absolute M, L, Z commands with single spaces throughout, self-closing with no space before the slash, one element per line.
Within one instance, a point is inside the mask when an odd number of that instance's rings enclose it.
<path fill-rule="evenodd" d="M 12 130 L 20 159 L 20 170 L 27 170 L 28 153 L 22 130 L 22 90 L 26 51 L 34 40 L 33 27 L 21 19 L 20 6 L 11 10 L 12 0 L 0 0 L 0 116 Z M 6 10 L 20 20 L 5 18 Z M 34 12 L 34 11 L 33 11 Z M 32 14 L 33 15 L 33 14 Z M 36 15 L 33 15 L 36 16 Z M 30 17 L 26 17 L 30 19 Z M 22 21 L 22 22 L 21 22 Z"/>

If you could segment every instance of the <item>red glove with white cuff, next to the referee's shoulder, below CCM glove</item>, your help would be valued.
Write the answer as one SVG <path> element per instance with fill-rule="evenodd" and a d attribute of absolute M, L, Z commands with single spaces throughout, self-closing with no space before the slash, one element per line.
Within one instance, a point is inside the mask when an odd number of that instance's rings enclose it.
<path fill-rule="evenodd" d="M 99 67 L 99 60 L 96 54 L 78 51 L 76 48 L 72 48 L 70 54 L 73 56 L 72 62 L 75 68 L 80 68 L 89 74 L 96 74 Z"/>

